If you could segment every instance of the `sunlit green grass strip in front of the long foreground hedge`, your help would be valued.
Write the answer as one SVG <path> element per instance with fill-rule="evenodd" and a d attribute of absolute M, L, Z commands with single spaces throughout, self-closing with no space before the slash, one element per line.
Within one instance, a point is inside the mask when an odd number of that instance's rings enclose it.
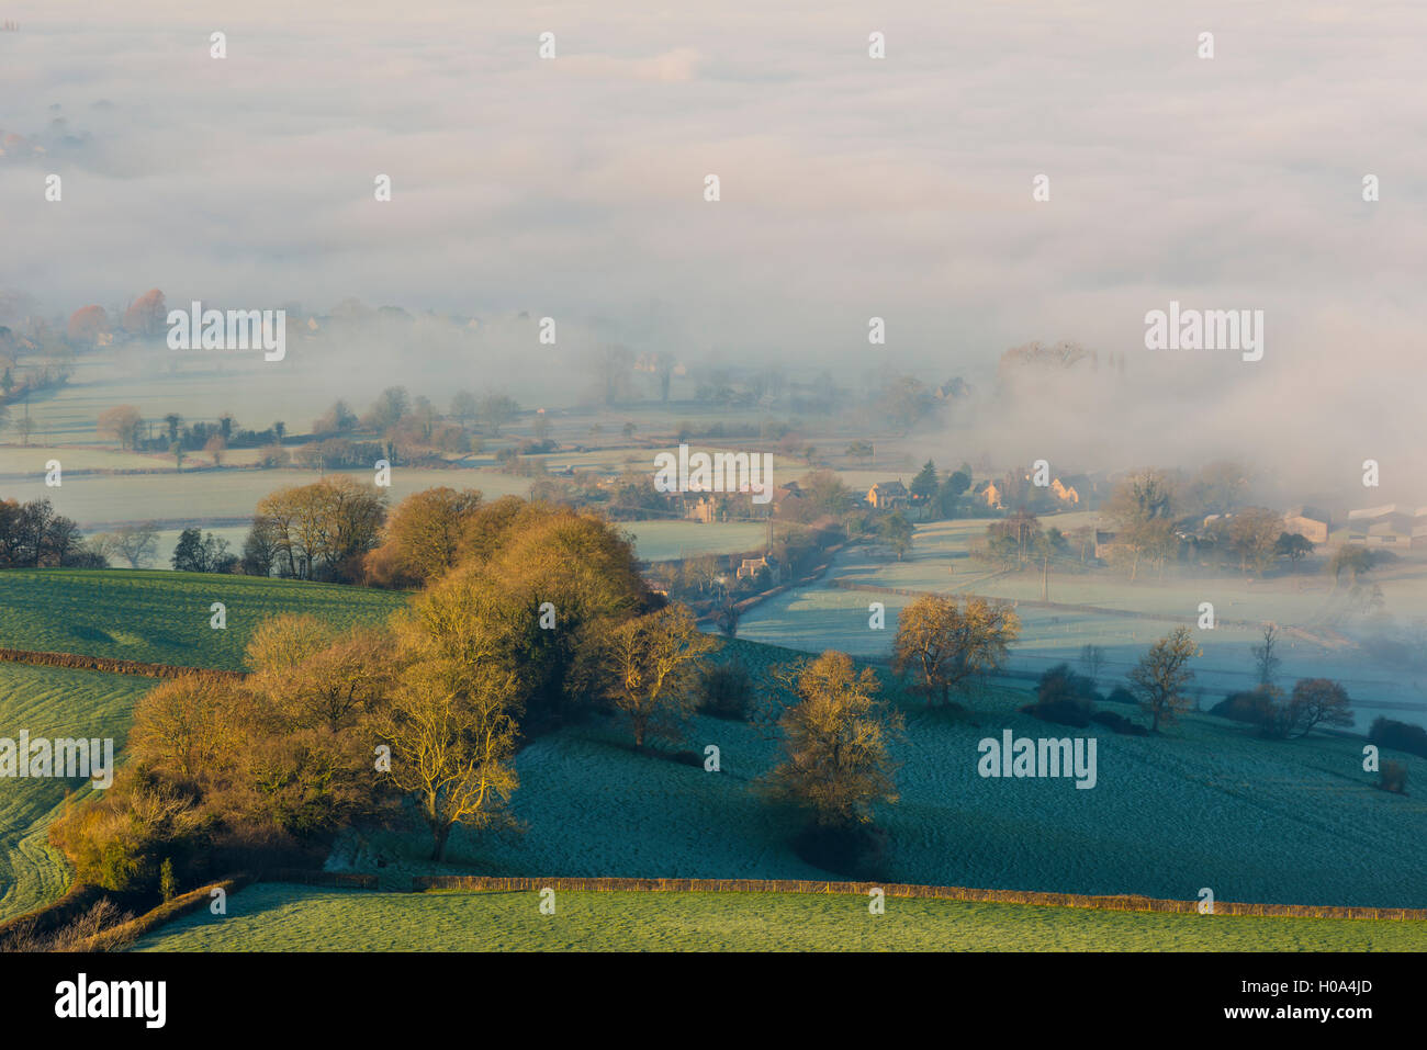
<path fill-rule="evenodd" d="M 248 886 L 141 952 L 1366 952 L 1421 950 L 1427 923 L 1100 912 L 812 893 L 370 893 Z"/>

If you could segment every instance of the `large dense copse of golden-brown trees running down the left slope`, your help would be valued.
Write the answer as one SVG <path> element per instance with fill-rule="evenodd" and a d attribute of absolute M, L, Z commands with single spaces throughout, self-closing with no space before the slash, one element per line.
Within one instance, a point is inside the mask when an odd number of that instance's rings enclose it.
<path fill-rule="evenodd" d="M 331 484 L 335 494 L 288 491 L 268 508 L 293 512 L 293 542 L 332 528 L 305 521 L 311 508 L 350 525 L 344 509 L 370 499 Z M 402 797 L 440 860 L 457 825 L 511 823 L 522 736 L 605 698 L 648 735 L 684 709 L 712 642 L 686 609 L 648 592 L 628 536 L 594 515 L 467 496 L 458 539 L 447 532 L 430 548 L 447 558 L 455 542 L 457 565 L 388 628 L 277 616 L 248 641 L 247 679 L 188 676 L 148 693 L 114 786 L 54 826 L 78 877 L 151 892 L 166 862 L 178 885 L 311 862 L 341 827 L 397 819 Z M 447 491 L 411 509 L 440 516 L 461 504 Z"/>

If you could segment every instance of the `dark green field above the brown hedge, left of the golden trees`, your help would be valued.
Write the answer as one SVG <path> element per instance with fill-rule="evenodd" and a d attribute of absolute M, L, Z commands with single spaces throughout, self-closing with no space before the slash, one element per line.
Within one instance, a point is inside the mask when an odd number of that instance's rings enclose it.
<path fill-rule="evenodd" d="M 390 591 L 254 576 L 11 569 L 0 572 L 0 648 L 240 671 L 248 635 L 267 616 L 378 623 L 404 601 Z M 227 606 L 223 631 L 210 626 L 213 602 Z"/>

